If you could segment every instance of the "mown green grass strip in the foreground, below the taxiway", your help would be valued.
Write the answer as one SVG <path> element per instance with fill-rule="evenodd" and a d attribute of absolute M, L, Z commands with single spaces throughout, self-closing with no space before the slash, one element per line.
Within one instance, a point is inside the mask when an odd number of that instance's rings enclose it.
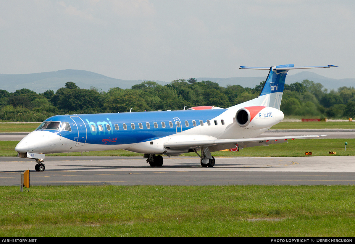
<path fill-rule="evenodd" d="M 0 187 L 1 237 L 353 237 L 354 186 Z M 70 197 L 69 197 L 70 196 Z"/>

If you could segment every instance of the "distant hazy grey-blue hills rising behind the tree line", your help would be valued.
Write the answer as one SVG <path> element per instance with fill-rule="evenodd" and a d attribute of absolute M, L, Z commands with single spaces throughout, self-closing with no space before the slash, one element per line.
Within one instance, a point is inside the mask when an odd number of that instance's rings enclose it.
<path fill-rule="evenodd" d="M 190 77 L 186 77 L 189 79 Z M 193 77 L 195 78 L 195 77 Z M 266 75 L 261 77 L 232 77 L 232 78 L 196 78 L 197 81 L 213 81 L 220 86 L 241 85 L 242 87 L 254 88 L 260 82 L 265 81 Z M 339 87 L 355 86 L 355 78 L 349 79 L 331 79 L 313 72 L 303 71 L 293 75 L 288 75 L 286 84 L 302 82 L 304 79 L 311 80 L 315 83 L 321 83 L 328 90 L 338 89 Z M 132 85 L 140 84 L 147 80 L 126 81 L 121 79 L 110 78 L 94 72 L 84 70 L 59 70 L 53 72 L 33 73 L 33 74 L 0 74 L 0 89 L 14 92 L 15 90 L 27 88 L 36 93 L 43 93 L 45 90 L 53 90 L 54 92 L 65 83 L 71 81 L 78 87 L 89 89 L 95 87 L 102 91 L 108 91 L 113 87 L 122 89 L 131 88 Z M 158 84 L 165 85 L 169 82 L 155 81 Z"/>

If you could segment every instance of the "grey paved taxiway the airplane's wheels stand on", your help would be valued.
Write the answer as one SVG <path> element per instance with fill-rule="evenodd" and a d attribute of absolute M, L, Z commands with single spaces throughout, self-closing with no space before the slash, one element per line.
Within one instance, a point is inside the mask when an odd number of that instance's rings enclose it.
<path fill-rule="evenodd" d="M 216 157 L 212 168 L 198 157 L 164 157 L 150 167 L 141 157 L 46 157 L 45 171 L 34 160 L 0 158 L 0 185 L 19 185 L 30 170 L 31 185 L 354 185 L 355 156 Z"/>

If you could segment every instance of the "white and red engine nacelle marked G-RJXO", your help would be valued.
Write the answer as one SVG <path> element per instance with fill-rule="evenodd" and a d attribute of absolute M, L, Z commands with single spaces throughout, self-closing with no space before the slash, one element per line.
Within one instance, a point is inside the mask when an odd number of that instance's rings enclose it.
<path fill-rule="evenodd" d="M 284 113 L 274 107 L 243 107 L 235 114 L 235 121 L 245 129 L 271 127 L 284 119 Z"/>

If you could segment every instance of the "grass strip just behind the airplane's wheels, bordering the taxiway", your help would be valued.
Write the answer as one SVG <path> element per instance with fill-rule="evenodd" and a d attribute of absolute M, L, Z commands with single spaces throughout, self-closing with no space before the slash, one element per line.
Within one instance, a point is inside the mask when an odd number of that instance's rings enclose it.
<path fill-rule="evenodd" d="M 344 143 L 347 142 L 346 146 Z M 0 156 L 17 156 L 14 150 L 18 141 L 0 141 Z M 305 152 L 312 152 L 312 156 L 348 156 L 355 155 L 355 139 L 298 139 L 289 143 L 280 143 L 269 146 L 255 146 L 240 149 L 239 152 L 218 151 L 213 156 L 228 157 L 298 157 L 305 156 Z M 337 152 L 337 155 L 329 155 L 329 151 Z M 46 154 L 46 156 L 80 156 L 80 153 Z M 131 153 L 125 150 L 83 152 L 83 156 L 143 156 L 143 154 Z M 182 154 L 181 156 L 197 156 L 195 153 Z"/>

